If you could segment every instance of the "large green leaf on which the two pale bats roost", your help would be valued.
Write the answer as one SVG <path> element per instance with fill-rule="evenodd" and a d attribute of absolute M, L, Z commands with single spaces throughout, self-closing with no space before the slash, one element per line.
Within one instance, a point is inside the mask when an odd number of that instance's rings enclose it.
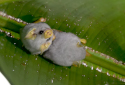
<path fill-rule="evenodd" d="M 125 84 L 125 1 L 11 1 L 0 1 L 0 11 L 15 17 L 0 16 L 0 69 L 12 85 Z M 25 25 L 16 18 L 31 23 L 40 17 L 54 29 L 87 40 L 94 50 L 87 49 L 90 55 L 80 67 L 52 64 L 22 47 L 19 32 Z"/>

